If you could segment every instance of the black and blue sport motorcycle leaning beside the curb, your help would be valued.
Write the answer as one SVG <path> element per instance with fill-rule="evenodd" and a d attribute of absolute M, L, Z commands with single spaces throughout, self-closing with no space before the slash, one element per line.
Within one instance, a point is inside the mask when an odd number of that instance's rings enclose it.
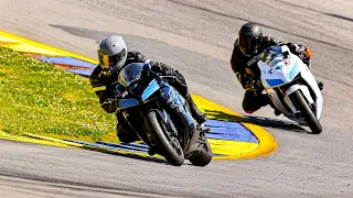
<path fill-rule="evenodd" d="M 181 166 L 185 158 L 196 166 L 211 162 L 212 151 L 203 132 L 196 136 L 202 140 L 202 150 L 188 153 L 194 146 L 191 139 L 202 131 L 197 130 L 201 127 L 192 118 L 188 101 L 153 73 L 149 64 L 125 66 L 119 72 L 118 86 L 125 90 L 117 91 L 120 92 L 118 111 L 150 151 L 175 166 Z"/>

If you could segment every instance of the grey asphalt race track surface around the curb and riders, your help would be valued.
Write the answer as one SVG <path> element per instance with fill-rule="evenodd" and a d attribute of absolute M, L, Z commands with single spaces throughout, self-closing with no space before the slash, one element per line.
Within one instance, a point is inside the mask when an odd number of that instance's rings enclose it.
<path fill-rule="evenodd" d="M 270 108 L 252 116 L 279 144 L 257 160 L 172 167 L 0 141 L 0 196 L 353 197 L 352 10 L 350 0 L 0 1 L 0 30 L 92 58 L 106 34 L 121 34 L 130 50 L 180 69 L 192 92 L 237 112 L 243 90 L 228 61 L 247 21 L 311 46 L 313 73 L 325 85 L 320 135 L 275 118 Z"/>

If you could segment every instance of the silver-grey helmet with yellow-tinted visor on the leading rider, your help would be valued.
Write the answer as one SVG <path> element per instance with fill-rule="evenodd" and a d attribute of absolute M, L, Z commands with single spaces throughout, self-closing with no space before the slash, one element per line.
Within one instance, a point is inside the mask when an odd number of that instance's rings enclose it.
<path fill-rule="evenodd" d="M 118 72 L 126 63 L 127 46 L 121 36 L 110 35 L 104 38 L 97 50 L 99 65 L 104 70 Z"/>

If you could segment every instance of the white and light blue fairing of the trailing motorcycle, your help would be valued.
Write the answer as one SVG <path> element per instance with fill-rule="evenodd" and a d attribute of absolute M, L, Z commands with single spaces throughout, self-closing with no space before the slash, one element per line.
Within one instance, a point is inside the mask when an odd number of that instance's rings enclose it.
<path fill-rule="evenodd" d="M 315 117 L 322 112 L 322 95 L 308 66 L 288 46 L 269 46 L 257 63 L 261 84 L 274 105 L 287 117 L 298 112 L 289 96 L 301 90 L 309 106 L 314 106 Z"/>

